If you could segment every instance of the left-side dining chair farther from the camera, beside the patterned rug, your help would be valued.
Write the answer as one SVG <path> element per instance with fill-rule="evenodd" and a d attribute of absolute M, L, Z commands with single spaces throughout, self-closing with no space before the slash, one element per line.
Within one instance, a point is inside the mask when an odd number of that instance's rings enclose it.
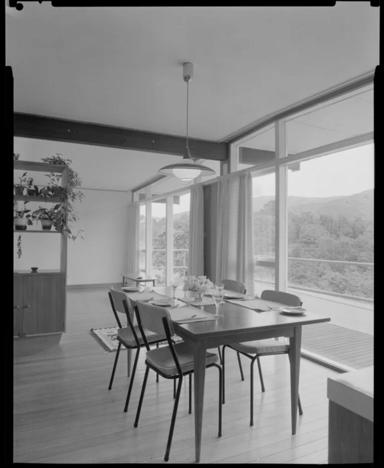
<path fill-rule="evenodd" d="M 118 325 L 117 330 L 117 337 L 116 340 L 119 342 L 115 362 L 113 364 L 111 380 L 109 382 L 108 390 L 112 389 L 113 379 L 115 377 L 115 371 L 117 366 L 117 361 L 119 360 L 120 348 L 121 345 L 125 346 L 127 350 L 136 349 L 135 361 L 132 368 L 131 378 L 128 387 L 127 399 L 124 406 L 124 412 L 127 413 L 129 400 L 131 398 L 131 392 L 133 387 L 133 381 L 135 379 L 136 367 L 137 362 L 139 360 L 140 348 L 145 346 L 143 339 L 141 338 L 141 332 L 137 325 L 133 324 L 133 317 L 134 317 L 134 310 L 131 304 L 131 300 L 127 297 L 127 295 L 122 292 L 118 291 L 114 288 L 110 288 L 108 291 L 109 300 L 111 302 L 112 311 L 116 318 L 116 322 Z M 124 314 L 127 317 L 128 326 L 123 327 L 120 322 L 120 318 L 118 313 Z M 156 344 L 159 346 L 159 343 L 167 341 L 166 336 L 163 334 L 156 334 L 149 330 L 143 330 L 145 336 L 147 337 L 147 342 L 151 345 Z M 156 376 L 156 382 L 159 382 L 159 375 Z"/>

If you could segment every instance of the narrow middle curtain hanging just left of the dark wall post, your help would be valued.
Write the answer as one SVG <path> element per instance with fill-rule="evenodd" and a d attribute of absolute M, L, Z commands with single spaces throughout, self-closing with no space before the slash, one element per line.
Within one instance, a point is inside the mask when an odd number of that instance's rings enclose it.
<path fill-rule="evenodd" d="M 201 184 L 191 188 L 188 273 L 204 274 L 204 202 Z"/>

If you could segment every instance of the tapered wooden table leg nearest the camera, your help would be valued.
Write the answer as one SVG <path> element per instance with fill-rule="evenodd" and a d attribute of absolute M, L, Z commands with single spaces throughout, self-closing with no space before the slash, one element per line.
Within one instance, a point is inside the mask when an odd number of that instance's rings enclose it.
<path fill-rule="evenodd" d="M 206 361 L 206 340 L 194 343 L 194 452 L 196 463 L 200 461 L 202 410 L 204 404 L 204 381 Z"/>

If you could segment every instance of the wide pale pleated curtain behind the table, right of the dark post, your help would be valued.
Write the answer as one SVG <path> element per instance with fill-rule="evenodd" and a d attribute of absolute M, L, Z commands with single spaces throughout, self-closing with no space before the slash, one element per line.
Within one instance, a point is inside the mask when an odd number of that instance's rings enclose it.
<path fill-rule="evenodd" d="M 249 172 L 228 174 L 217 183 L 215 281 L 242 281 L 253 294 L 252 177 Z"/>

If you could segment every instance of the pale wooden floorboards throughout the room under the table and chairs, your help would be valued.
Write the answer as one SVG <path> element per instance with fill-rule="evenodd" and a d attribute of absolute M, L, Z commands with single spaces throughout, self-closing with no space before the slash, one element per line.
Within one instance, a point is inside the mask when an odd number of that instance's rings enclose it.
<path fill-rule="evenodd" d="M 138 428 L 133 427 L 144 375 L 139 361 L 128 413 L 123 412 L 129 379 L 122 352 L 111 391 L 114 353 L 104 353 L 89 329 L 115 326 L 107 290 L 67 294 L 67 333 L 60 344 L 29 348 L 20 339 L 14 352 L 15 463 L 164 463 L 173 407 L 173 384 L 151 372 Z M 217 438 L 218 373 L 206 373 L 201 463 L 327 463 L 327 377 L 337 375 L 301 360 L 304 415 L 291 434 L 287 356 L 262 360 L 266 392 L 255 383 L 255 423 L 249 426 L 249 363 L 241 382 L 236 354 L 226 353 L 223 434 Z M 256 379 L 257 373 L 255 376 Z M 187 381 L 186 381 L 187 382 Z M 168 463 L 194 463 L 193 414 L 188 386 L 182 397 Z"/>

